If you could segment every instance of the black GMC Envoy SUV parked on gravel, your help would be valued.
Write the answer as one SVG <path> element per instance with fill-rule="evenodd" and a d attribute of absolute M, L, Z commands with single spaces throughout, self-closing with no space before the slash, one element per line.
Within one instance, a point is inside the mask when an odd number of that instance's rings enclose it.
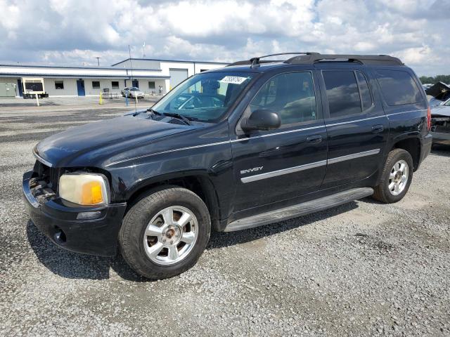
<path fill-rule="evenodd" d="M 161 279 L 193 266 L 211 230 L 403 198 L 432 143 L 416 74 L 387 55 L 290 54 L 196 74 L 151 109 L 41 141 L 23 177 L 34 224 L 71 251 L 120 246 Z"/>

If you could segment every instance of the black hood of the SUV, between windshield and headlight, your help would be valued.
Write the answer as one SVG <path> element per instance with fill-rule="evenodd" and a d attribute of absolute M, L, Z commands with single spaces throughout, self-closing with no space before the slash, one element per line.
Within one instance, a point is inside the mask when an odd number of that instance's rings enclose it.
<path fill-rule="evenodd" d="M 69 128 L 42 140 L 34 151 L 56 167 L 71 166 L 79 157 L 84 157 L 82 166 L 94 166 L 102 155 L 109 157 L 120 150 L 146 145 L 191 128 L 127 115 Z"/>

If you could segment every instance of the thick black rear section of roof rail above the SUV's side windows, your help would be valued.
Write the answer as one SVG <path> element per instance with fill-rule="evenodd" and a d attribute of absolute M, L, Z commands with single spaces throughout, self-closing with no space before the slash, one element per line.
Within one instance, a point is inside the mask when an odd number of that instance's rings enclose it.
<path fill-rule="evenodd" d="M 321 61 L 359 62 L 362 65 L 404 65 L 399 58 L 389 55 L 313 54 L 295 56 L 284 62 L 291 65 L 311 65 Z"/>

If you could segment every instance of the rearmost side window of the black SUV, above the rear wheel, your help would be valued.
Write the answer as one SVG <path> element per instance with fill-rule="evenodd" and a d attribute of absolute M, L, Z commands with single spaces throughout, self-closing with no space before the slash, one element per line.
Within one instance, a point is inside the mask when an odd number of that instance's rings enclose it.
<path fill-rule="evenodd" d="M 388 105 L 419 103 L 422 93 L 409 72 L 378 70 L 378 83 Z"/>

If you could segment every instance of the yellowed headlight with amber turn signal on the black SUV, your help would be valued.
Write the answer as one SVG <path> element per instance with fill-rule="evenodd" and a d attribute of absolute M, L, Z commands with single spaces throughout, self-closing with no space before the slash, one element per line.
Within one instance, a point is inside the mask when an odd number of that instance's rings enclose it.
<path fill-rule="evenodd" d="M 105 205 L 109 203 L 108 182 L 102 174 L 63 174 L 59 178 L 59 196 L 79 205 Z"/>

